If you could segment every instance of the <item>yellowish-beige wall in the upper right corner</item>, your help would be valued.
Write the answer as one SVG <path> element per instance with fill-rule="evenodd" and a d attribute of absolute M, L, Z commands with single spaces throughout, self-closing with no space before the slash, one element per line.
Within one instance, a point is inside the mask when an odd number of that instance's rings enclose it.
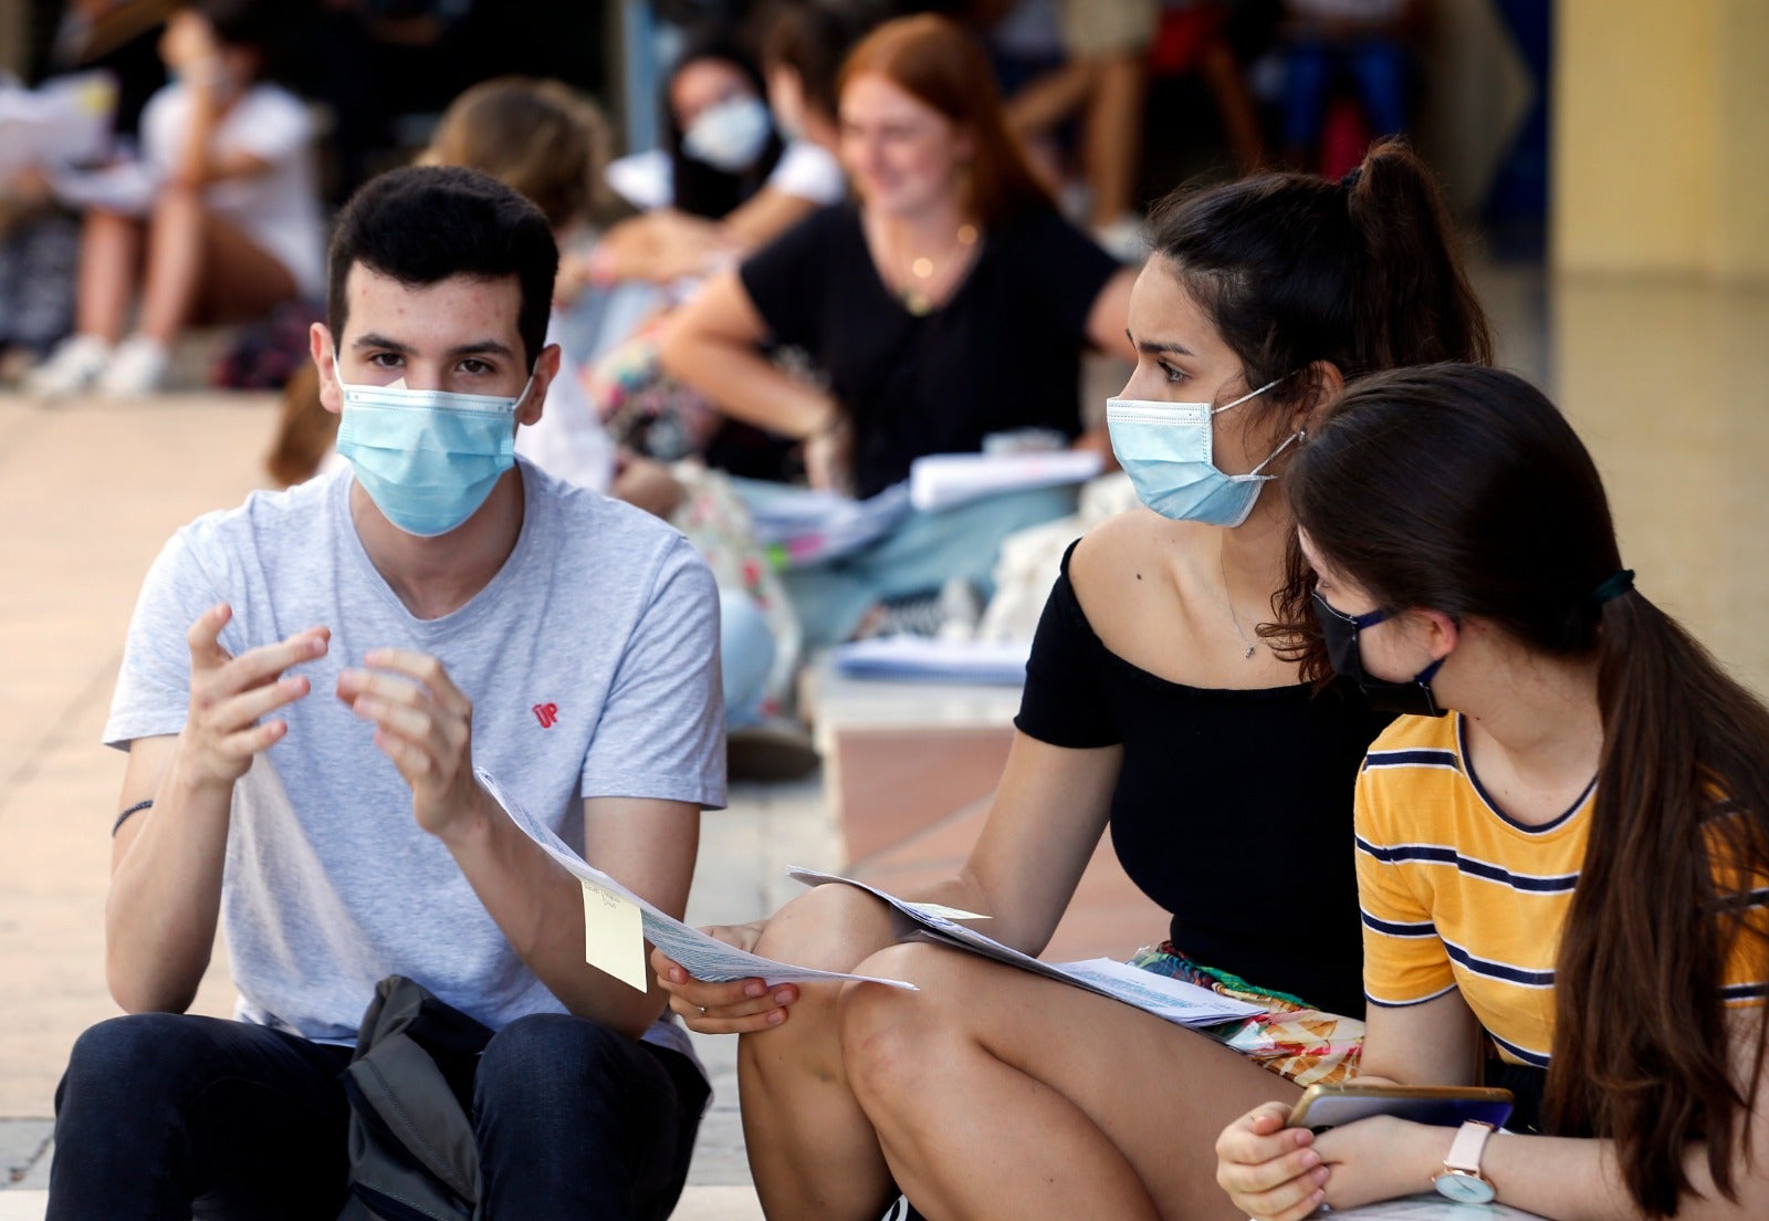
<path fill-rule="evenodd" d="M 1769 280 L 1769 4 L 1558 0 L 1557 271 Z"/>

